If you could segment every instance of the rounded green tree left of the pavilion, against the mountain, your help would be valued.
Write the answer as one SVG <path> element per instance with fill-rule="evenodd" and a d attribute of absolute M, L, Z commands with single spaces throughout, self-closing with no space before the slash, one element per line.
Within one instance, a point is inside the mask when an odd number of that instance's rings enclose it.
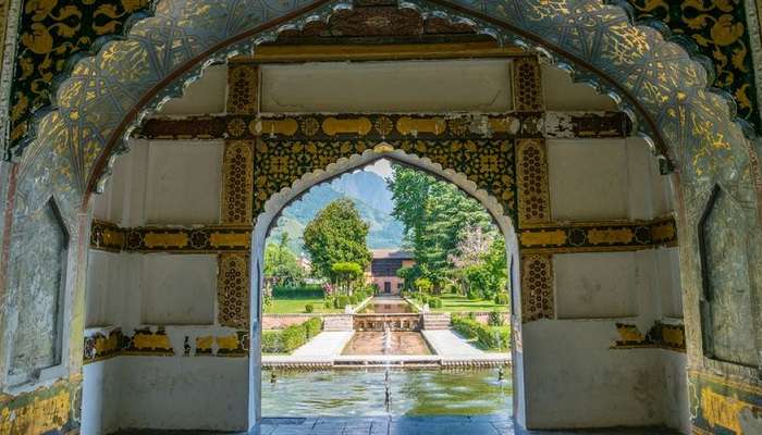
<path fill-rule="evenodd" d="M 371 258 L 366 241 L 368 229 L 351 200 L 337 199 L 325 206 L 304 232 L 305 249 L 315 273 L 336 282 L 331 269 L 336 263 L 353 262 L 361 270 L 368 268 Z"/>

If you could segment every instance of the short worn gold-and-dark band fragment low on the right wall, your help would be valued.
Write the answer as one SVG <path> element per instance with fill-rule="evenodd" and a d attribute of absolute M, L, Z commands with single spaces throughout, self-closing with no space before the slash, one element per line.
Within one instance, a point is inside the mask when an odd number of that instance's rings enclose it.
<path fill-rule="evenodd" d="M 681 324 L 667 324 L 656 321 L 648 334 L 643 335 L 638 326 L 617 323 L 619 334 L 612 349 L 660 348 L 678 352 L 686 351 L 686 333 Z"/>

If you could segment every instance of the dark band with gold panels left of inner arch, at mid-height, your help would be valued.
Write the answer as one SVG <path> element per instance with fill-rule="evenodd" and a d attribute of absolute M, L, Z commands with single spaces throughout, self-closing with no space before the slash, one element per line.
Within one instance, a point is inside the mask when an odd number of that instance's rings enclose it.
<path fill-rule="evenodd" d="M 248 252 L 251 226 L 135 227 L 93 221 L 90 248 L 134 252 Z"/>

